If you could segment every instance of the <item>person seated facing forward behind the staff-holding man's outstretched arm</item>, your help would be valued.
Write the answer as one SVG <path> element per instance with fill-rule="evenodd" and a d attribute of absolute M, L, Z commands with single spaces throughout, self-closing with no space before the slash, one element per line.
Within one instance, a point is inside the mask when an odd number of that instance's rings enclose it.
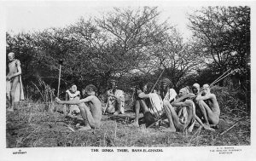
<path fill-rule="evenodd" d="M 70 89 L 67 89 L 66 91 L 66 101 L 72 101 L 72 100 L 80 100 L 80 91 L 78 90 L 77 86 L 75 84 L 72 84 Z M 64 105 L 64 112 L 66 114 L 66 105 Z M 70 105 L 69 106 L 69 113 L 67 116 L 72 117 L 73 114 L 79 113 L 79 106 L 78 105 Z"/>

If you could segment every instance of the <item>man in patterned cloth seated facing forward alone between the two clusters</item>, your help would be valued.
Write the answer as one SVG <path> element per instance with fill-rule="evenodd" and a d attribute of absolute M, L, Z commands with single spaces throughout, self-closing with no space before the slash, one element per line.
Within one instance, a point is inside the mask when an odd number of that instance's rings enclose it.
<path fill-rule="evenodd" d="M 106 110 L 108 113 L 117 115 L 119 113 L 125 113 L 125 94 L 123 90 L 117 89 L 116 81 L 111 80 L 111 89 L 108 89 L 108 102 L 106 104 Z"/>

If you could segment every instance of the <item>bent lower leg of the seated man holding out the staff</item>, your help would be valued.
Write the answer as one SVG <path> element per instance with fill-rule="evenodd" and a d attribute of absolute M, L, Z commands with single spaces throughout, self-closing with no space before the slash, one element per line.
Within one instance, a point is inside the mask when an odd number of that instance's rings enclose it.
<path fill-rule="evenodd" d="M 80 103 L 79 109 L 80 109 L 80 112 L 81 112 L 82 118 L 84 119 L 84 124 L 85 124 L 85 126 L 79 130 L 87 130 L 87 129 L 91 129 L 91 128 L 96 128 L 96 123 L 90 113 L 90 108 L 88 106 L 86 106 L 84 103 Z"/>

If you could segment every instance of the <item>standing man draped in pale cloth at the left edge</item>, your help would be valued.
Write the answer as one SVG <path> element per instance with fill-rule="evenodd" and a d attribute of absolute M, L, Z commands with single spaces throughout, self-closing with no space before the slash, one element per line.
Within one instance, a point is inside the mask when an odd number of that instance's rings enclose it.
<path fill-rule="evenodd" d="M 20 60 L 15 59 L 15 53 L 8 55 L 9 72 L 6 76 L 6 94 L 9 101 L 7 111 L 14 112 L 16 101 L 24 100 L 24 93 L 21 83 Z"/>

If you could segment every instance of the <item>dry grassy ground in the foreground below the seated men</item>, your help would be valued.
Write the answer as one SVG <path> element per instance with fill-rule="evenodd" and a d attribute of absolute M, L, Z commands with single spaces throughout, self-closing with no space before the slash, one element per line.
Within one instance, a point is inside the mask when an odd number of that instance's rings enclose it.
<path fill-rule="evenodd" d="M 191 133 L 161 132 L 157 128 L 131 128 L 134 114 L 103 115 L 100 129 L 78 131 L 79 118 L 65 118 L 61 112 L 48 112 L 48 106 L 24 101 L 6 115 L 7 147 L 183 147 L 247 146 L 251 142 L 250 118 L 235 113 L 220 116 L 215 132 L 198 126 Z M 57 106 L 61 109 L 61 106 Z M 239 124 L 236 124 L 236 123 Z M 220 135 L 233 124 L 236 126 Z M 68 127 L 75 129 L 73 132 Z"/>

